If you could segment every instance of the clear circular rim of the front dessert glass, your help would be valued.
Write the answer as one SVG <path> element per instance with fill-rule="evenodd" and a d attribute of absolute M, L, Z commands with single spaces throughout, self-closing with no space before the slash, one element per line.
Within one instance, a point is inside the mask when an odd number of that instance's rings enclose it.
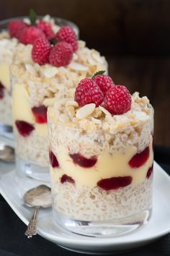
<path fill-rule="evenodd" d="M 53 103 L 52 105 L 50 105 L 48 108 L 53 108 L 53 105 L 54 105 L 55 103 Z M 151 108 L 151 114 L 149 115 L 149 118 L 148 119 L 146 119 L 145 121 L 143 121 L 143 124 L 146 124 L 148 121 L 151 121 L 152 119 L 153 119 L 153 116 L 154 116 L 154 108 L 153 108 L 153 106 L 151 105 L 151 103 L 149 103 L 148 104 L 149 105 L 149 108 Z M 49 114 L 48 114 L 48 116 L 49 116 Z M 50 116 L 49 116 L 49 118 L 50 118 Z M 51 120 L 51 119 L 50 119 Z M 117 132 L 116 132 L 116 134 L 118 133 L 118 132 L 123 132 L 123 131 L 125 131 L 126 129 L 129 129 L 130 127 L 132 127 L 132 128 L 135 128 L 135 127 L 138 127 L 138 125 L 139 124 L 134 124 L 134 125 L 130 125 L 130 126 L 128 126 L 128 127 L 123 127 L 123 128 L 120 128 L 120 129 L 117 129 Z M 89 129 L 84 129 L 84 128 L 80 128 L 80 127 L 68 127 L 67 125 L 65 125 L 65 124 L 63 124 L 63 123 L 61 123 L 61 122 L 57 122 L 57 126 L 59 126 L 59 127 L 65 127 L 66 129 L 72 129 L 72 130 L 78 130 L 78 131 L 86 131 L 87 133 L 88 132 L 97 132 L 97 131 L 101 131 L 102 129 L 96 129 L 96 130 L 94 130 L 94 131 L 91 131 L 91 130 L 89 130 Z M 115 129 L 115 131 L 116 131 L 116 129 Z M 114 135 L 113 135 L 114 136 Z"/>

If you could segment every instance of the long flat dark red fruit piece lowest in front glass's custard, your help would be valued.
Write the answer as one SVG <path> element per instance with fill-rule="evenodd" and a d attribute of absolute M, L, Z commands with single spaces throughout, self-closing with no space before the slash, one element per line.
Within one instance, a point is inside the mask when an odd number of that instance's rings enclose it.
<path fill-rule="evenodd" d="M 121 187 L 126 187 L 131 184 L 132 180 L 132 176 L 112 177 L 109 179 L 101 179 L 99 182 L 97 182 L 97 186 L 106 191 L 111 189 L 120 189 Z"/>

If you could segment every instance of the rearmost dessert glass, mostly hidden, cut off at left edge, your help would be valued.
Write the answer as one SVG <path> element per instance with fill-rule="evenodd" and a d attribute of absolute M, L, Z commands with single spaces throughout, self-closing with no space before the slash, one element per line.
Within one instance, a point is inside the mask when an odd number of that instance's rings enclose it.
<path fill-rule="evenodd" d="M 79 36 L 79 28 L 73 23 L 58 17 L 51 17 L 59 26 L 70 25 Z M 0 22 L 0 140 L 4 145 L 14 147 L 14 135 L 12 128 L 12 106 L 10 86 L 10 65 L 15 61 L 15 50 L 19 43 L 17 38 L 10 38 L 7 32 L 9 23 L 14 20 L 24 20 L 28 17 L 15 17 Z M 42 19 L 42 16 L 37 16 Z M 11 43 L 7 43 L 9 40 Z M 18 61 L 18 60 L 17 60 Z"/>

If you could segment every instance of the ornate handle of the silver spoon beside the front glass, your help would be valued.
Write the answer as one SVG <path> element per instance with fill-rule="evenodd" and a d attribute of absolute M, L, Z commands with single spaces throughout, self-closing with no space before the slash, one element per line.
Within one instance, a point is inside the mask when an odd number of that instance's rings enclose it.
<path fill-rule="evenodd" d="M 27 238 L 31 238 L 32 236 L 37 234 L 37 215 L 39 213 L 40 206 L 35 207 L 34 214 L 30 219 L 30 223 L 27 226 L 27 230 L 25 231 L 25 235 Z"/>

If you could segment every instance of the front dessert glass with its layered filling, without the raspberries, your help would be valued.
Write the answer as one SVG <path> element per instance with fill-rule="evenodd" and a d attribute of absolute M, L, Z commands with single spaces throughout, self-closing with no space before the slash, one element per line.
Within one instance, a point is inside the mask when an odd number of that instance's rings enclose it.
<path fill-rule="evenodd" d="M 77 109 L 73 101 L 48 108 L 53 218 L 86 236 L 134 231 L 151 217 L 153 108 L 134 94 L 120 116 L 99 107 L 78 119 Z"/>

